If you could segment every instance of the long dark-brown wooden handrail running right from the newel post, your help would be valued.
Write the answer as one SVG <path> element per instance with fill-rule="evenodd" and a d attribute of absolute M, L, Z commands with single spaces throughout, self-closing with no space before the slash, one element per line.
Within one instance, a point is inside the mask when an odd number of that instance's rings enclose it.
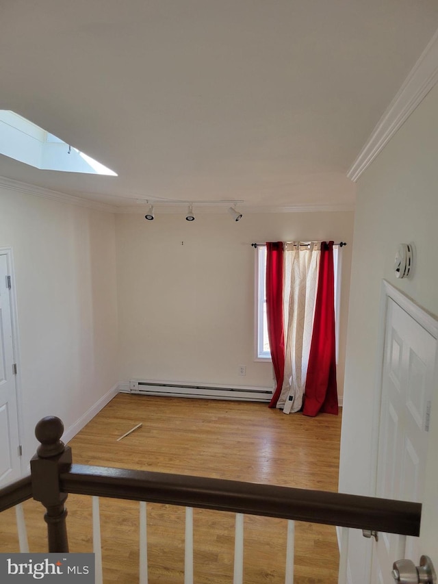
<path fill-rule="evenodd" d="M 419 535 L 421 503 L 73 464 L 60 491 Z"/>

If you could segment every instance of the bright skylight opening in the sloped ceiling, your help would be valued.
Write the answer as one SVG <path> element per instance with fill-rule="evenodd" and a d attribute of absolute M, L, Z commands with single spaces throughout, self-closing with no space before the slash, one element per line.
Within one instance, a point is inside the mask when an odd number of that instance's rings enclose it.
<path fill-rule="evenodd" d="M 0 110 L 0 154 L 40 170 L 117 176 L 107 166 L 10 110 Z"/>

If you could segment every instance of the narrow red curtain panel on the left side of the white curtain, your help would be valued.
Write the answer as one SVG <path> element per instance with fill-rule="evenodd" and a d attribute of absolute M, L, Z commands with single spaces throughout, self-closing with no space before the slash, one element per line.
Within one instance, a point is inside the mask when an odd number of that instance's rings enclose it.
<path fill-rule="evenodd" d="M 266 316 L 276 388 L 269 407 L 275 407 L 283 387 L 285 333 L 283 325 L 283 242 L 266 244 Z"/>

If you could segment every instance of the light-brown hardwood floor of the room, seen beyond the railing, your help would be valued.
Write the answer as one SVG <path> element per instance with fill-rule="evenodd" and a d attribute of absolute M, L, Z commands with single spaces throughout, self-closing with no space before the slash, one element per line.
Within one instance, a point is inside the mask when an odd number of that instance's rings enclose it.
<path fill-rule="evenodd" d="M 116 438 L 139 422 L 142 428 Z M 70 442 L 78 464 L 337 490 L 341 416 L 286 416 L 264 404 L 118 394 Z M 101 499 L 105 583 L 138 582 L 138 503 Z M 47 551 L 43 509 L 24 504 L 29 546 Z M 91 498 L 67 500 L 70 551 L 92 551 Z M 183 583 L 184 509 L 148 504 L 149 584 Z M 284 582 L 287 522 L 246 516 L 244 582 Z M 233 581 L 234 516 L 194 509 L 194 581 Z M 0 551 L 18 551 L 13 509 Z M 296 523 L 295 582 L 336 584 L 335 528 Z"/>

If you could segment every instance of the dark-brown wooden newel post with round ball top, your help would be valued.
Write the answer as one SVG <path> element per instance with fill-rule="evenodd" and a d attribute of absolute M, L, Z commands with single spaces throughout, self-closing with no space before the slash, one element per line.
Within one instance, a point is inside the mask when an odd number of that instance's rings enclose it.
<path fill-rule="evenodd" d="M 60 418 L 42 418 L 35 428 L 40 446 L 30 461 L 34 499 L 47 509 L 44 520 L 49 553 L 68 552 L 67 510 L 64 507 L 68 495 L 60 492 L 60 473 L 70 468 L 72 456 L 70 446 L 64 446 L 60 440 L 63 432 L 64 424 Z"/>

